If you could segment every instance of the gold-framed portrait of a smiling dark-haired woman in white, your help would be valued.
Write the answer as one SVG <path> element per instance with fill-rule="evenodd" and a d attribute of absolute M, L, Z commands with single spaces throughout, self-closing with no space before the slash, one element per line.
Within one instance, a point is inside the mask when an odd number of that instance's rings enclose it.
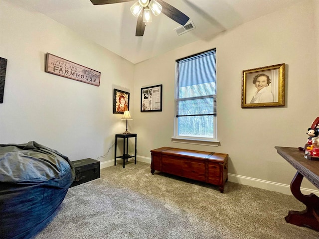
<path fill-rule="evenodd" d="M 285 63 L 242 71 L 241 107 L 285 106 Z"/>

